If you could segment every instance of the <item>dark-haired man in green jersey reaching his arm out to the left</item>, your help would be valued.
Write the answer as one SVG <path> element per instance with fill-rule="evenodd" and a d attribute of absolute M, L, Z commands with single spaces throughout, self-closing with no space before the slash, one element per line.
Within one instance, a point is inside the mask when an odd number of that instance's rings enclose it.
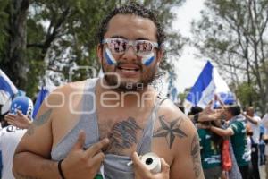
<path fill-rule="evenodd" d="M 230 137 L 239 171 L 242 178 L 247 179 L 250 155 L 248 155 L 247 152 L 246 123 L 240 113 L 241 109 L 237 105 L 226 107 L 224 115 L 229 122 L 228 127 L 226 129 L 221 129 L 219 127 L 209 126 L 209 129 L 222 137 Z"/>

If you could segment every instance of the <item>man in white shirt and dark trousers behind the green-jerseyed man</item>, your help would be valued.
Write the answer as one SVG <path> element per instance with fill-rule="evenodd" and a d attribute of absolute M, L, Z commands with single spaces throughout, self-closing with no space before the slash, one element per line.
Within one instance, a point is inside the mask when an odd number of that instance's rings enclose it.
<path fill-rule="evenodd" d="M 246 114 L 242 113 L 247 123 L 250 124 L 253 131 L 252 142 L 251 142 L 251 163 L 253 166 L 253 176 L 255 179 L 260 179 L 258 158 L 259 158 L 259 142 L 260 142 L 260 123 L 261 118 L 255 115 L 253 107 L 247 107 Z"/>

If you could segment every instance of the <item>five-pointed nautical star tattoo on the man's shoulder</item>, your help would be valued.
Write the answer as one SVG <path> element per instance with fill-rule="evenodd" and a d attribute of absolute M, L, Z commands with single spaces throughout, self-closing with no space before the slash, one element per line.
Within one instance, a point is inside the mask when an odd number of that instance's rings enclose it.
<path fill-rule="evenodd" d="M 164 137 L 169 145 L 169 148 L 172 149 L 172 144 L 175 140 L 175 137 L 183 138 L 187 137 L 187 134 L 180 129 L 180 124 L 182 118 L 176 118 L 172 122 L 166 122 L 164 116 L 159 116 L 160 127 L 154 132 L 153 137 Z"/>

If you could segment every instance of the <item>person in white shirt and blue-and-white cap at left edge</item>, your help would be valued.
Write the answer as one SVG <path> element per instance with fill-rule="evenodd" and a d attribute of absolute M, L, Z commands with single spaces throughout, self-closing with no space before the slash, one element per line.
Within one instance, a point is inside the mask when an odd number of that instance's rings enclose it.
<path fill-rule="evenodd" d="M 1 130 L 0 134 L 0 152 L 2 153 L 2 176 L 1 179 L 14 179 L 13 168 L 13 155 L 18 143 L 21 141 L 22 136 L 27 132 L 26 127 L 22 128 L 21 123 L 28 122 L 32 119 L 33 104 L 28 97 L 17 97 L 13 99 L 9 113 L 4 115 L 4 120 L 8 125 Z M 22 121 L 22 122 L 21 122 Z M 18 126 L 14 126 L 17 124 Z M 30 123 L 28 123 L 30 124 Z"/>

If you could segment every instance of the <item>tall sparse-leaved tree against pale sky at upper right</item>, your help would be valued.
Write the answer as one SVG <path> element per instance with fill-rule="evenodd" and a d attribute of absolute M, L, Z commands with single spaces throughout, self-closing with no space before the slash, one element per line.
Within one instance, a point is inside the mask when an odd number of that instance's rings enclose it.
<path fill-rule="evenodd" d="M 214 60 L 239 87 L 247 81 L 258 100 L 249 96 L 264 113 L 268 101 L 268 1 L 206 0 L 200 21 L 193 22 L 193 44 L 200 54 Z M 250 94 L 251 95 L 251 94 Z"/>

